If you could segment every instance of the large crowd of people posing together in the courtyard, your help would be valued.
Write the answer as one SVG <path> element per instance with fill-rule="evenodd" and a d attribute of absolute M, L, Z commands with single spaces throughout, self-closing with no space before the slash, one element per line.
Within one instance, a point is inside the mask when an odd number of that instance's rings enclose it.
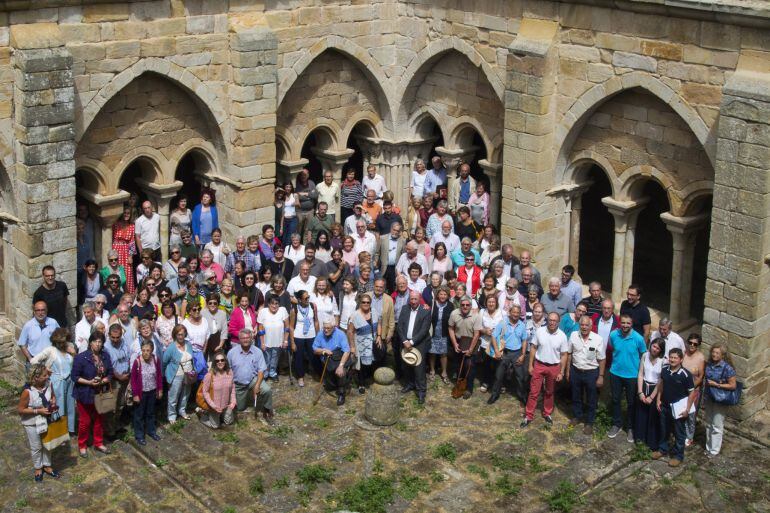
<path fill-rule="evenodd" d="M 706 452 L 717 455 L 725 406 L 706 391 L 736 388 L 727 349 L 714 344 L 704 357 L 700 336 L 685 343 L 667 319 L 652 332 L 638 285 L 616 305 L 596 282 L 583 297 L 572 265 L 544 280 L 530 252 L 501 244 L 470 166 L 448 183 L 441 159 L 431 164 L 416 162 L 406 211 L 375 166 L 361 181 L 346 170 L 340 183 L 327 171 L 316 184 L 302 170 L 296 183 L 276 185 L 274 224 L 232 246 L 214 191 L 204 189 L 192 211 L 177 198 L 167 241 L 152 203 L 132 196 L 101 263 L 79 206 L 80 319 L 69 327 L 69 292 L 46 266 L 18 340 L 29 372 L 18 411 L 35 479 L 59 475 L 41 444 L 54 416 L 67 417 L 87 458 L 89 444 L 109 452 L 129 411 L 141 445 L 161 439 L 158 412 L 170 424 L 193 413 L 212 429 L 246 411 L 273 423 L 271 383 L 288 375 L 304 387 L 312 375 L 342 405 L 386 365 L 419 403 L 429 380 L 453 385 L 456 398 L 488 393 L 489 404 L 507 392 L 523 407 L 522 428 L 541 394 L 552 423 L 555 391 L 567 384 L 570 422 L 592 434 L 607 386 L 608 436 L 625 430 L 672 466 L 692 444 L 705 397 Z"/>

